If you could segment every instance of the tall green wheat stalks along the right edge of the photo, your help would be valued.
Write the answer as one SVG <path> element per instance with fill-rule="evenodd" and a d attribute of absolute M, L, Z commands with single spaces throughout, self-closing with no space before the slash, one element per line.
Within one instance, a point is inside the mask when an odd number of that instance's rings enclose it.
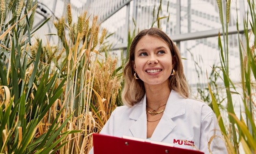
<path fill-rule="evenodd" d="M 223 114 L 218 107 L 218 102 L 216 100 L 216 96 L 214 96 L 211 86 L 209 85 L 209 91 L 212 98 L 213 109 L 216 113 L 217 118 L 219 119 L 219 126 L 221 128 L 221 132 L 224 136 L 224 140 L 226 141 L 226 145 L 228 148 L 228 152 L 231 154 L 239 154 L 240 152 L 245 152 L 246 154 L 255 153 L 256 152 L 256 124 L 255 124 L 255 94 L 256 94 L 256 54 L 255 54 L 255 2 L 253 0 L 247 1 L 249 6 L 249 13 L 244 17 L 244 27 L 239 27 L 237 22 L 237 31 L 239 38 L 239 53 L 240 53 L 240 65 L 241 65 L 241 82 L 234 83 L 230 79 L 229 73 L 229 52 L 228 52 L 228 35 L 225 32 L 228 32 L 228 23 L 230 19 L 230 0 L 223 2 L 221 0 L 217 0 L 219 15 L 222 24 L 223 36 L 219 35 L 219 51 L 220 51 L 220 60 L 221 66 L 219 77 L 223 81 L 223 85 L 225 86 L 225 101 L 227 102 L 227 115 L 228 115 L 228 123 L 223 122 Z M 224 8 L 224 9 L 223 9 Z M 224 13 L 225 10 L 226 12 Z M 224 14 L 226 16 L 224 16 Z M 238 19 L 238 18 L 236 18 Z M 239 28 L 244 29 L 245 41 L 242 41 L 241 34 L 239 34 Z M 222 39 L 221 39 L 222 37 Z M 251 39 L 253 41 L 251 42 Z M 245 43 L 244 43 L 245 42 Z M 252 44 L 250 44 L 252 43 Z M 241 89 L 241 90 L 240 90 Z M 244 111 L 241 111 L 239 117 L 234 112 L 234 98 L 235 95 L 239 95 L 241 98 L 241 102 L 243 102 L 243 106 L 245 107 Z M 245 115 L 245 116 L 242 116 Z M 241 148 L 242 147 L 242 151 Z"/>

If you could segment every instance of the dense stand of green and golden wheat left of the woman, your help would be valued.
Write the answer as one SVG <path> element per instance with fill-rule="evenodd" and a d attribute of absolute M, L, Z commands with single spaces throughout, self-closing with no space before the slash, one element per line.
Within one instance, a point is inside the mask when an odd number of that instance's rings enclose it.
<path fill-rule="evenodd" d="M 50 22 L 33 28 L 36 7 L 0 1 L 0 153 L 87 153 L 119 102 L 121 67 L 100 53 L 107 32 L 97 16 L 73 23 L 68 4 L 52 46 L 33 36 Z"/>

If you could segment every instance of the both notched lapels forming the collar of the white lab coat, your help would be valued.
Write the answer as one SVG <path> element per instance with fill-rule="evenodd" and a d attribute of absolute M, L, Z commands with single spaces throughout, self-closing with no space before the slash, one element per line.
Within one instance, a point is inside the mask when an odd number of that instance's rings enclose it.
<path fill-rule="evenodd" d="M 171 118 L 185 114 L 184 98 L 176 91 L 171 90 L 163 116 L 156 126 L 151 137 L 154 141 L 163 141 L 163 139 L 171 133 L 176 124 Z M 147 114 L 146 114 L 146 95 L 139 103 L 134 106 L 129 118 L 136 120 L 130 126 L 130 131 L 134 137 L 145 139 L 147 137 Z"/>

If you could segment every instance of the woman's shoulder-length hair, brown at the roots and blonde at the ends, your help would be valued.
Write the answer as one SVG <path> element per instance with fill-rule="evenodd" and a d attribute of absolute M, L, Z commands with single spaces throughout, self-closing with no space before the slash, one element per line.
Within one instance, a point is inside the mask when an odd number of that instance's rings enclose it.
<path fill-rule="evenodd" d="M 165 32 L 158 28 L 145 29 L 139 32 L 130 45 L 130 56 L 129 60 L 124 67 L 124 89 L 122 92 L 122 101 L 126 106 L 133 106 L 138 103 L 145 95 L 144 83 L 141 79 L 134 78 L 134 69 L 132 67 L 132 61 L 135 60 L 135 47 L 138 41 L 143 36 L 157 36 L 165 41 L 171 50 L 172 62 L 174 63 L 175 74 L 169 77 L 169 88 L 175 90 L 184 98 L 189 97 L 189 86 L 187 84 L 186 77 L 183 71 L 183 65 L 180 57 L 180 51 L 177 46 L 174 45 L 173 41 L 167 36 Z"/>

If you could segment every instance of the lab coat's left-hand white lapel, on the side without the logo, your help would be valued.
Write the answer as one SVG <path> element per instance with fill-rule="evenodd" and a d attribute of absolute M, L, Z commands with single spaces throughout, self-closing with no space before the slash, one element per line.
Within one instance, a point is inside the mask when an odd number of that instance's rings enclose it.
<path fill-rule="evenodd" d="M 130 132 L 133 137 L 146 139 L 147 138 L 147 114 L 146 114 L 146 95 L 141 99 L 141 102 L 136 104 L 129 118 L 136 120 L 130 126 Z"/>

